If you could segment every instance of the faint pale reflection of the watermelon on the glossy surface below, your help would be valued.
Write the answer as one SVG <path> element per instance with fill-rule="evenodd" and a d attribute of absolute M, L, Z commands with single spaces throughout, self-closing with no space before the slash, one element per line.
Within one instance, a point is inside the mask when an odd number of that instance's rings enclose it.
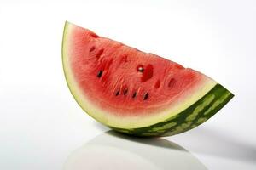
<path fill-rule="evenodd" d="M 166 139 L 141 139 L 108 131 L 67 157 L 65 170 L 207 169 L 178 144 Z"/>

